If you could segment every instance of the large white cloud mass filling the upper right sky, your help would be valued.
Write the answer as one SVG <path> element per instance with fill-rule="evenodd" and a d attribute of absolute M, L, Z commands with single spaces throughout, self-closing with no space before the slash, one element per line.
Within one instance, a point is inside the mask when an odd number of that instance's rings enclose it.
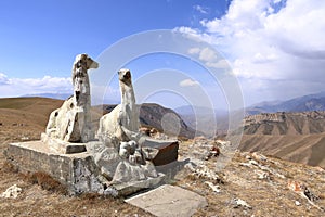
<path fill-rule="evenodd" d="M 284 99 L 324 90 L 324 11 L 325 1 L 318 0 L 233 0 L 222 17 L 200 21 L 202 29 L 178 30 L 209 42 L 226 56 L 248 87 L 244 97 L 263 88 L 274 91 L 269 95 Z M 211 56 L 207 52 L 202 60 Z M 263 85 L 249 88 L 253 84 Z"/>

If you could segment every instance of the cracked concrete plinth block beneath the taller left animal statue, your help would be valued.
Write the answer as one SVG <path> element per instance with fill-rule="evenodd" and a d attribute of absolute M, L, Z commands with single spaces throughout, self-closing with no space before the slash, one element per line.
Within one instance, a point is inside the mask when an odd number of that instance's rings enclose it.
<path fill-rule="evenodd" d="M 9 144 L 5 156 L 21 173 L 46 173 L 65 184 L 72 194 L 104 193 L 99 168 L 88 152 L 61 154 L 42 141 L 30 141 Z"/>

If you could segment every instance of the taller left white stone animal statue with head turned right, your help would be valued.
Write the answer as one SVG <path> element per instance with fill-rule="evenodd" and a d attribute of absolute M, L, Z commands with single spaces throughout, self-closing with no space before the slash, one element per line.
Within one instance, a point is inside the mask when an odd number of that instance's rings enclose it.
<path fill-rule="evenodd" d="M 94 138 L 91 130 L 90 84 L 87 71 L 99 64 L 87 54 L 76 56 L 73 66 L 74 95 L 53 111 L 47 126 L 50 138 L 66 142 L 88 142 Z"/>

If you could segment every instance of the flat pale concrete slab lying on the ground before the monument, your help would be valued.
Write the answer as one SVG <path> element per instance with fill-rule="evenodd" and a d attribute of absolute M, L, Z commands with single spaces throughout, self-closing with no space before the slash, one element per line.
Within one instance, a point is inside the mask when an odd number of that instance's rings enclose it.
<path fill-rule="evenodd" d="M 161 217 L 188 217 L 208 205 L 204 196 L 169 184 L 132 196 L 126 202 Z"/>

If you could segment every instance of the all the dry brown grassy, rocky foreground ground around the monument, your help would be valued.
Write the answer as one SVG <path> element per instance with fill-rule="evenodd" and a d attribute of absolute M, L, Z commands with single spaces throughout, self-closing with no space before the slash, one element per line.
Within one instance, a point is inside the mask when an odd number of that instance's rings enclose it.
<path fill-rule="evenodd" d="M 17 140 L 22 138 L 2 137 L 1 149 Z M 235 152 L 222 168 L 226 145 L 203 138 L 180 144 L 180 159 L 187 164 L 170 183 L 207 199 L 208 206 L 195 216 L 325 215 L 323 168 L 245 152 Z M 16 173 L 2 154 L 0 164 L 0 193 L 13 184 L 22 189 L 16 199 L 0 197 L 2 216 L 152 216 L 122 199 L 68 196 L 62 189 L 51 188 L 51 180 L 42 182 Z"/>

